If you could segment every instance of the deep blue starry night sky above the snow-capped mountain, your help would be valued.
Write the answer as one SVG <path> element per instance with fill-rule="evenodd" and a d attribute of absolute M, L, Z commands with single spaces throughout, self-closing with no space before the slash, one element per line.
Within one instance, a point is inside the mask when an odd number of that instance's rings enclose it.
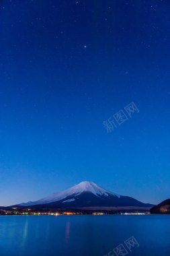
<path fill-rule="evenodd" d="M 1 0 L 0 205 L 81 181 L 170 197 L 169 13 L 167 0 Z"/>

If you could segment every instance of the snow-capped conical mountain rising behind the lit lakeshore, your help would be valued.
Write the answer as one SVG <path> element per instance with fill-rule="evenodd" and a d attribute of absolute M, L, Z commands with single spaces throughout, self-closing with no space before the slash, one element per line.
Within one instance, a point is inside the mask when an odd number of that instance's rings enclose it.
<path fill-rule="evenodd" d="M 57 208 L 87 208 L 87 207 L 152 207 L 132 197 L 117 195 L 99 187 L 91 181 L 83 181 L 65 191 L 53 193 L 38 201 L 21 203 L 26 207 L 57 207 Z"/>

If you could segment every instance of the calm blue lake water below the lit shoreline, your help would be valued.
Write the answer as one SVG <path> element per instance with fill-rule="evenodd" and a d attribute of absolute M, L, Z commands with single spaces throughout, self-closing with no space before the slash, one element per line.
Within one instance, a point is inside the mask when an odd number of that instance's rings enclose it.
<path fill-rule="evenodd" d="M 120 244 L 126 255 L 169 256 L 170 216 L 0 216 L 1 256 L 102 256 Z"/>

